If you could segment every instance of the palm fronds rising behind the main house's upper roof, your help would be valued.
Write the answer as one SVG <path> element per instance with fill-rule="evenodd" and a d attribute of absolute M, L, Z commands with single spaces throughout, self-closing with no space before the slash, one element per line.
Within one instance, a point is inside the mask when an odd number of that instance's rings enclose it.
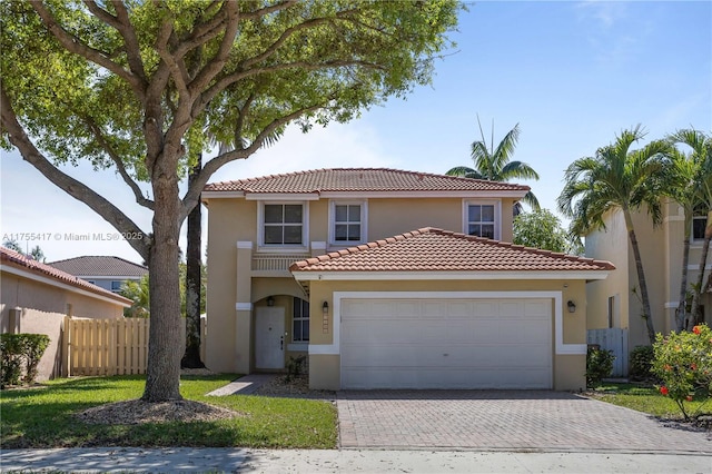
<path fill-rule="evenodd" d="M 490 181 L 508 181 L 512 178 L 521 179 L 538 179 L 538 174 L 523 161 L 511 161 L 516 142 L 520 139 L 520 125 L 515 125 L 507 135 L 504 136 L 497 148 L 494 148 L 494 121 L 492 122 L 492 138 L 490 148 L 482 131 L 479 116 L 477 116 L 477 125 L 479 126 L 481 141 L 472 144 L 472 160 L 475 168 L 467 166 L 456 166 L 449 169 L 445 175 L 462 176 L 465 178 L 486 179 Z M 540 210 L 538 200 L 532 191 L 524 196 L 524 203 L 528 204 L 532 209 Z M 517 203 L 515 215 L 522 211 L 521 205 Z"/>

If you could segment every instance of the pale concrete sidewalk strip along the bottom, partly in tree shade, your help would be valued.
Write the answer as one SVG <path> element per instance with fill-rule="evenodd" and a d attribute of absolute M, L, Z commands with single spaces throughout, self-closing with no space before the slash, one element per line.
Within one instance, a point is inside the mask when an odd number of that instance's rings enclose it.
<path fill-rule="evenodd" d="M 712 456 L 644 453 L 66 448 L 2 450 L 0 468 L 130 473 L 712 473 Z"/>

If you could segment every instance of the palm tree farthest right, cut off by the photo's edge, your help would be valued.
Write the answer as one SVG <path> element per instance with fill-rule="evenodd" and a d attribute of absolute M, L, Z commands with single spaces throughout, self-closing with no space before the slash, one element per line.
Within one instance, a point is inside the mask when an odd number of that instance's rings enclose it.
<path fill-rule="evenodd" d="M 695 209 L 703 209 L 708 215 L 706 227 L 704 229 L 704 243 L 702 244 L 702 256 L 700 257 L 700 269 L 698 274 L 698 280 L 692 285 L 692 317 L 688 319 L 686 329 L 691 330 L 695 324 L 701 323 L 700 315 L 700 296 L 705 293 L 710 285 L 710 278 L 708 278 L 706 285 L 703 287 L 702 282 L 704 278 L 704 271 L 706 267 L 708 253 L 710 250 L 710 240 L 712 239 L 712 138 L 699 130 L 685 129 L 678 130 L 670 136 L 670 139 L 680 145 L 686 145 L 692 149 L 689 157 L 691 162 L 690 180 L 682 185 L 686 188 L 682 190 L 684 194 L 689 194 L 690 201 L 685 206 L 685 251 L 690 248 L 690 230 L 692 228 L 692 217 Z M 680 154 L 682 155 L 682 154 Z M 690 213 L 690 219 L 688 220 L 688 211 Z M 683 265 L 683 273 L 686 271 L 686 261 Z M 686 275 L 683 283 L 686 286 Z M 684 292 L 681 304 L 684 305 Z M 684 323 L 683 323 L 684 324 Z M 680 322 L 678 322 L 680 326 Z"/>

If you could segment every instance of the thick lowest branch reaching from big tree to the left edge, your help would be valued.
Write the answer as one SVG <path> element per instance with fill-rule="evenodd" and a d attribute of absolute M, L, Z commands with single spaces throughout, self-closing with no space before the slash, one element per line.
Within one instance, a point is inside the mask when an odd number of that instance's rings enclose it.
<path fill-rule="evenodd" d="M 4 86 L 2 85 L 2 78 L 0 78 L 0 118 L 2 129 L 7 131 L 10 142 L 20 150 L 22 158 L 44 175 L 48 180 L 75 199 L 89 206 L 117 230 L 142 235 L 142 239 L 129 239 L 128 243 L 144 259 L 148 260 L 151 245 L 148 234 L 142 231 L 128 216 L 101 195 L 97 194 L 83 182 L 60 171 L 34 147 L 34 144 L 29 139 L 17 119 L 10 98 L 6 93 Z"/>

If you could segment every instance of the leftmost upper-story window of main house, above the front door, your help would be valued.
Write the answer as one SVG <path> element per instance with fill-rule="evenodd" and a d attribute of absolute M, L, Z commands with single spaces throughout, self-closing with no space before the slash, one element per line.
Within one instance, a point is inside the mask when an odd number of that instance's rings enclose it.
<path fill-rule="evenodd" d="M 305 205 L 301 203 L 265 203 L 261 209 L 261 239 L 265 246 L 304 245 Z"/>

